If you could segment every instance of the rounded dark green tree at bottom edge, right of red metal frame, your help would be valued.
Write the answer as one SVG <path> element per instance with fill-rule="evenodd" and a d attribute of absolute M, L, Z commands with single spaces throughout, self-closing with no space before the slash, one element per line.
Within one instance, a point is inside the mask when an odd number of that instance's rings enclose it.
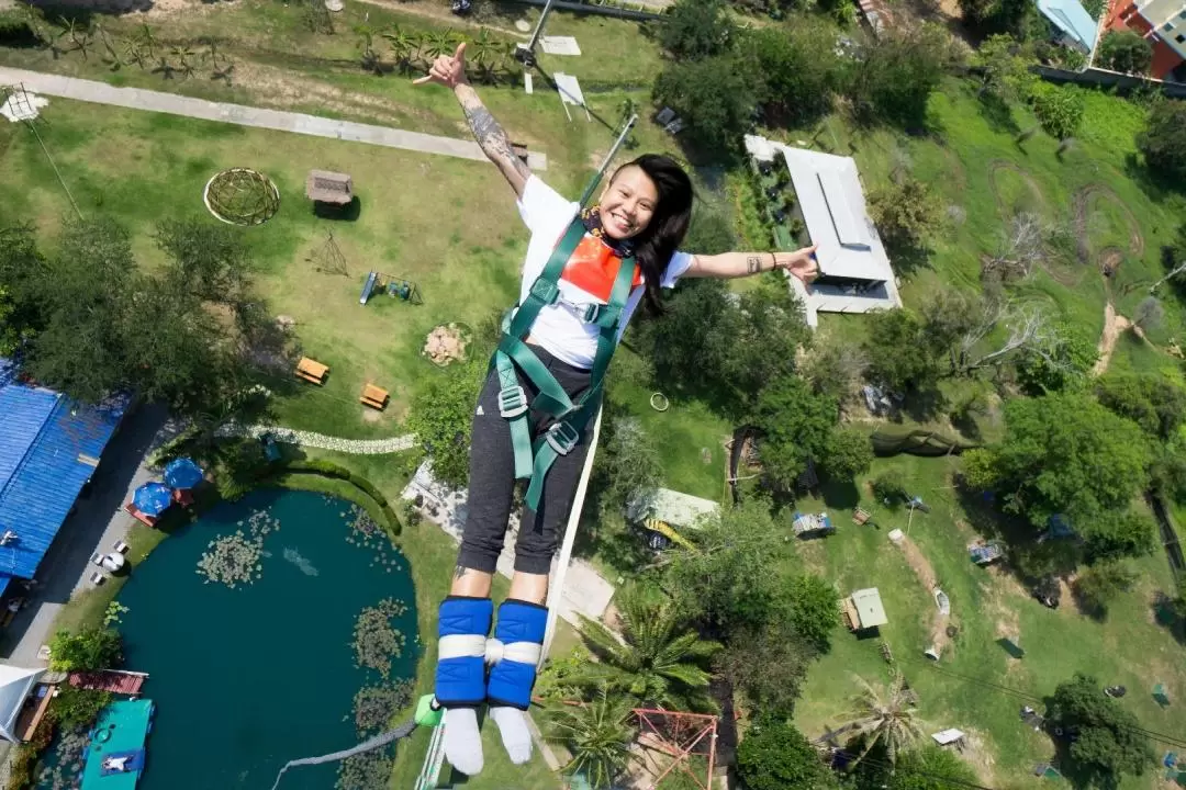
<path fill-rule="evenodd" d="M 738 776 L 747 790 L 836 786 L 835 776 L 803 733 L 770 719 L 754 725 L 738 746 Z"/>

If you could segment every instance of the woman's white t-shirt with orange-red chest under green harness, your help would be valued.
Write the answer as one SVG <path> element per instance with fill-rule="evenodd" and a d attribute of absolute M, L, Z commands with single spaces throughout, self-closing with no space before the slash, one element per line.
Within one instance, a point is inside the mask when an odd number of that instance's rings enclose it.
<path fill-rule="evenodd" d="M 536 175 L 531 175 L 527 180 L 523 197 L 519 198 L 517 205 L 523 223 L 531 231 L 527 259 L 523 262 L 523 282 L 519 288 L 519 303 L 522 303 L 531 290 L 531 283 L 548 264 L 551 251 L 560 237 L 568 230 L 568 225 L 573 221 L 580 206 L 563 198 Z M 680 276 L 691 266 L 691 255 L 687 252 L 676 252 L 671 256 L 671 262 L 663 275 L 663 282 L 659 284 L 663 288 L 674 287 Z M 574 306 L 605 304 L 606 300 L 566 281 L 563 275 L 561 275 L 559 287 L 561 301 L 548 304 L 540 310 L 535 323 L 531 325 L 531 341 L 569 365 L 591 368 L 593 367 L 593 358 L 597 355 L 598 326 L 582 321 Z M 608 293 L 608 288 L 605 293 Z M 637 285 L 631 290 L 621 320 L 618 322 L 619 341 L 642 297 L 643 285 Z"/>

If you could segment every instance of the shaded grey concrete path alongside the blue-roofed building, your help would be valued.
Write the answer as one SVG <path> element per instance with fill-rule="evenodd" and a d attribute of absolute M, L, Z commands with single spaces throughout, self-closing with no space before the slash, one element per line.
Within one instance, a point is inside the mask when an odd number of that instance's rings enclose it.
<path fill-rule="evenodd" d="M 111 551 L 127 537 L 132 516 L 123 510 L 132 493 L 157 476 L 144 465 L 166 420 L 161 406 L 141 406 L 128 415 L 111 438 L 95 470 L 89 492 L 79 496 L 57 539 L 37 569 L 39 585 L 32 602 L 23 609 L 0 638 L 0 656 L 23 667 L 44 666 L 37 657 L 52 636 L 53 619 L 75 592 L 90 585 L 97 569 L 90 564 L 95 552 Z"/>

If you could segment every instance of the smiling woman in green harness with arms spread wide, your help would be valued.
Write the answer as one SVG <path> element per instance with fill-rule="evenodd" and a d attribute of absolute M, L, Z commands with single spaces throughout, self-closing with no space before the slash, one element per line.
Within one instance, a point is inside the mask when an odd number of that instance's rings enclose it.
<path fill-rule="evenodd" d="M 548 572 L 588 451 L 600 377 L 630 316 L 680 277 L 745 277 L 784 269 L 808 283 L 815 248 L 796 252 L 677 251 L 691 216 L 688 175 L 667 156 L 618 168 L 582 212 L 515 155 L 465 77 L 465 44 L 416 84 L 453 90 L 482 150 L 510 182 L 531 242 L 519 304 L 478 399 L 470 449 L 470 512 L 449 596 L 441 603 L 435 695 L 445 707 L 445 754 L 482 770 L 477 708 L 489 704 L 511 760 L 531 757 L 530 705 L 547 609 Z M 557 242 L 557 239 L 560 239 Z M 544 397 L 547 396 L 547 397 Z M 525 465 L 524 465 L 525 462 Z M 534 465 L 533 465 L 534 464 Z M 490 584 L 516 477 L 530 477 L 515 574 L 493 638 Z M 485 662 L 493 666 L 489 672 Z"/>

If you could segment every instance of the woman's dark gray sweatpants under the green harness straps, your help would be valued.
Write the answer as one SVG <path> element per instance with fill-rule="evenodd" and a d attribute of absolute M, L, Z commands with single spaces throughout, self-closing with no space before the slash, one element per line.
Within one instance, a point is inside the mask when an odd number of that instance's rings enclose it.
<path fill-rule="evenodd" d="M 589 385 L 589 371 L 562 362 L 538 346 L 531 346 L 540 361 L 556 377 L 574 402 Z M 522 371 L 519 384 L 528 402 L 538 390 Z M 506 537 L 511 502 L 515 494 L 515 449 L 510 424 L 498 413 L 498 372 L 491 370 L 478 397 L 470 438 L 470 512 L 461 538 L 457 564 L 461 567 L 493 573 Z M 528 412 L 533 437 L 540 436 L 553 422 L 550 416 Z M 568 455 L 557 456 L 544 477 L 540 512 L 523 507 L 518 540 L 515 544 L 515 570 L 523 573 L 548 573 L 556 553 L 560 534 L 572 510 L 576 483 L 588 452 L 589 431 Z"/>

